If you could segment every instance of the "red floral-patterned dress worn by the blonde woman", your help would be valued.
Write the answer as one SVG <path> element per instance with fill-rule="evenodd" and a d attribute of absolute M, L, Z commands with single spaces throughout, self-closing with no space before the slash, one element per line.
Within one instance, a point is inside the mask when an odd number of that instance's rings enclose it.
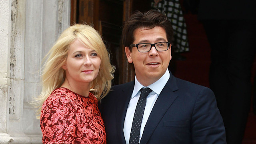
<path fill-rule="evenodd" d="M 57 88 L 42 105 L 43 144 L 106 144 L 98 100 Z"/>

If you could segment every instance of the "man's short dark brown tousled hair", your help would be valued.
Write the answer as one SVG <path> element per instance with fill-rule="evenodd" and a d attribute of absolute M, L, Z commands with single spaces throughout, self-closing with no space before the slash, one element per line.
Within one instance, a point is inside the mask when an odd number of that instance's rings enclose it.
<path fill-rule="evenodd" d="M 165 14 L 157 10 L 149 10 L 144 12 L 134 12 L 130 18 L 125 22 L 122 31 L 122 43 L 124 46 L 130 48 L 130 44 L 134 42 L 134 30 L 137 28 L 151 29 L 156 26 L 164 28 L 168 42 L 171 42 L 173 37 L 172 24 Z"/>

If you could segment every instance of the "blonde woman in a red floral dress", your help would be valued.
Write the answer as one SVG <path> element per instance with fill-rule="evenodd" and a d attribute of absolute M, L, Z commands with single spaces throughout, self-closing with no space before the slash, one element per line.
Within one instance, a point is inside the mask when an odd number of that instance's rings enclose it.
<path fill-rule="evenodd" d="M 110 90 L 114 67 L 100 34 L 85 24 L 70 26 L 47 56 L 36 99 L 43 144 L 105 144 L 97 102 Z"/>

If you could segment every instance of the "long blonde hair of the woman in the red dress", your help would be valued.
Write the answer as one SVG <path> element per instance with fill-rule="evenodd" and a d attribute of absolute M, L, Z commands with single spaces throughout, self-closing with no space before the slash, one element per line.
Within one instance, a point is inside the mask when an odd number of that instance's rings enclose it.
<path fill-rule="evenodd" d="M 95 97 L 100 100 L 110 91 L 115 67 L 110 64 L 110 54 L 106 50 L 100 34 L 89 25 L 75 24 L 62 32 L 54 46 L 43 58 L 45 60 L 48 57 L 42 66 L 42 92 L 34 101 L 35 106 L 39 108 L 38 114 L 40 114 L 46 98 L 63 84 L 66 76 L 62 66 L 66 62 L 70 44 L 76 39 L 88 48 L 95 50 L 101 60 L 98 76 L 91 82 L 91 88 L 97 93 Z"/>

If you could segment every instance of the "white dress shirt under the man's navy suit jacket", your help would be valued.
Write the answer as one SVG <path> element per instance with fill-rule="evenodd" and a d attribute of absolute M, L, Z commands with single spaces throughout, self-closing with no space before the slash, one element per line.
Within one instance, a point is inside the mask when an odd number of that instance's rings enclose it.
<path fill-rule="evenodd" d="M 153 84 L 150 84 L 149 86 L 147 86 L 147 88 L 150 88 L 152 90 L 152 92 L 150 92 L 150 94 L 147 97 L 147 102 L 146 102 L 146 106 L 145 106 L 145 110 L 144 110 L 144 114 L 143 114 L 143 118 L 142 118 L 142 122 L 141 122 L 141 127 L 140 127 L 140 139 L 142 137 L 144 127 L 148 121 L 150 112 L 151 112 L 152 108 L 154 107 L 154 104 L 155 104 L 159 94 L 161 93 L 162 89 L 164 88 L 164 86 L 167 83 L 167 81 L 169 80 L 169 78 L 170 78 L 170 73 L 169 73 L 169 70 L 167 69 L 166 72 L 164 73 L 164 75 L 159 80 L 157 80 Z M 128 108 L 126 111 L 125 120 L 124 120 L 124 130 L 123 131 L 124 131 L 124 138 L 125 138 L 126 144 L 129 144 L 133 116 L 135 113 L 137 102 L 140 98 L 140 89 L 144 88 L 144 87 L 145 86 L 143 86 L 142 84 L 140 84 L 140 82 L 138 82 L 138 80 L 135 76 L 134 89 L 132 92 L 132 96 L 131 96 L 131 99 L 130 99 L 130 102 L 129 102 L 129 105 L 128 105 Z M 140 140 L 139 140 L 139 142 L 140 142 Z"/>

